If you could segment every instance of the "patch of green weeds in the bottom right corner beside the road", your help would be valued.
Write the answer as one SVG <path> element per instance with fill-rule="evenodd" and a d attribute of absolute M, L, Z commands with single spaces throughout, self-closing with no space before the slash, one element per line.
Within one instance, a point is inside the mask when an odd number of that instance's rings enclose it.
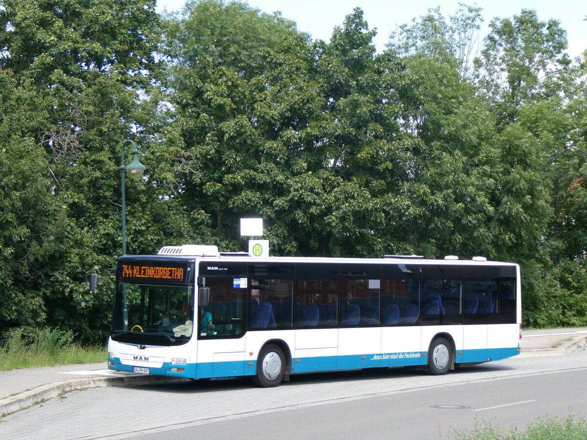
<path fill-rule="evenodd" d="M 455 440 L 585 440 L 587 421 L 585 416 L 569 414 L 564 418 L 535 418 L 522 431 L 495 427 L 492 422 L 475 422 L 470 432 L 457 431 Z"/>

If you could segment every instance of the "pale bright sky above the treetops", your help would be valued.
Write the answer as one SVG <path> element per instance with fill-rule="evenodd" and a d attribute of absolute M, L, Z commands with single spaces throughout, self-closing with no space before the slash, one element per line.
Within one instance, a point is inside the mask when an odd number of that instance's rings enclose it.
<path fill-rule="evenodd" d="M 587 50 L 587 21 L 583 21 L 587 15 L 585 0 L 249 0 L 246 3 L 267 13 L 281 11 L 282 16 L 297 23 L 300 31 L 309 33 L 313 39 L 325 41 L 330 39 L 332 29 L 342 26 L 345 16 L 359 6 L 369 28 L 377 28 L 373 42 L 379 52 L 397 26 L 426 15 L 429 8 L 436 6 L 440 6 L 440 12 L 446 17 L 458 11 L 459 3 L 482 8 L 482 37 L 487 35 L 487 25 L 492 18 L 507 18 L 519 14 L 522 9 L 535 9 L 542 21 L 554 18 L 561 22 L 567 32 L 567 52 L 571 57 Z M 185 0 L 157 0 L 157 11 L 179 11 L 184 4 Z"/>

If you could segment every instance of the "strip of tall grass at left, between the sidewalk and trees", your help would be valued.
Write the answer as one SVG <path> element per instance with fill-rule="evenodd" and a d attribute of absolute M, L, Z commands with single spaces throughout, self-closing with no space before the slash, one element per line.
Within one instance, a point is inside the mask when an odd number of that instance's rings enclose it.
<path fill-rule="evenodd" d="M 106 362 L 106 349 L 75 343 L 71 330 L 45 328 L 26 336 L 13 331 L 0 341 L 0 371 L 102 361 Z"/>

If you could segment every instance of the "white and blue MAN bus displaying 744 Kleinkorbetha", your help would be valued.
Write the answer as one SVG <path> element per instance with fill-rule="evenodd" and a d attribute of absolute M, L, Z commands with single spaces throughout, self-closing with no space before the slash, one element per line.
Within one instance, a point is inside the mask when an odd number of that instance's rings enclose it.
<path fill-rule="evenodd" d="M 514 263 L 417 256 L 256 258 L 217 246 L 121 256 L 111 370 L 190 379 L 458 365 L 519 354 Z"/>

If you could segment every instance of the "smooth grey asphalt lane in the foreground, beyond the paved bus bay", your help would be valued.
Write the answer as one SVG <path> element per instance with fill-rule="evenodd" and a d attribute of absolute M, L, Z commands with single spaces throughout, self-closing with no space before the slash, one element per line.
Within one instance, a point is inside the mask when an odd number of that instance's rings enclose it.
<path fill-rule="evenodd" d="M 477 424 L 523 427 L 537 415 L 587 412 L 585 370 L 533 374 L 363 398 L 224 420 L 135 437 L 141 440 L 452 439 Z"/>

